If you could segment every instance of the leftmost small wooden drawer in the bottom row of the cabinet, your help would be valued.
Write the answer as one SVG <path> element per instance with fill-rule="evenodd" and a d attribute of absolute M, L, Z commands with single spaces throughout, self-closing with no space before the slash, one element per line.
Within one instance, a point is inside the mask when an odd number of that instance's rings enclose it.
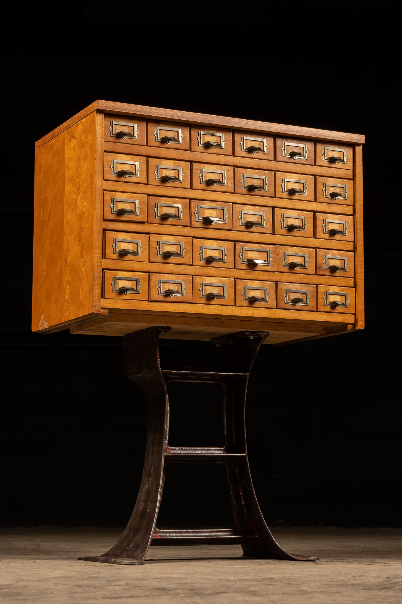
<path fill-rule="evenodd" d="M 115 300 L 148 300 L 148 273 L 103 271 L 103 295 Z"/>

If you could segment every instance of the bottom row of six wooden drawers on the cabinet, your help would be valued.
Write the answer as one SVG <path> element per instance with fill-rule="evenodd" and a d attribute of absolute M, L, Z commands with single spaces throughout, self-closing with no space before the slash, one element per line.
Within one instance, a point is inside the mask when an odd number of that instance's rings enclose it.
<path fill-rule="evenodd" d="M 354 288 L 248 281 L 208 275 L 103 271 L 104 298 L 355 312 Z"/>

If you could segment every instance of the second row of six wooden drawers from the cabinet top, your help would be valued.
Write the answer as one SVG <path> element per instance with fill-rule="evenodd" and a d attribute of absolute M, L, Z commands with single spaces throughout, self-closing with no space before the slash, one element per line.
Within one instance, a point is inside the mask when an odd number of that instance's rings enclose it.
<path fill-rule="evenodd" d="M 353 205 L 353 180 L 104 153 L 104 178 L 134 184 Z"/>

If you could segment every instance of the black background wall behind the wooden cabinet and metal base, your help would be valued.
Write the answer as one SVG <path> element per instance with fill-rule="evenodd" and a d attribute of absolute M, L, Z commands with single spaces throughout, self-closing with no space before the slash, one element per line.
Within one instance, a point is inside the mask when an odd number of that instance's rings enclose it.
<path fill-rule="evenodd" d="M 124 525 L 139 487 L 145 399 L 123 373 L 122 340 L 30 329 L 34 142 L 101 98 L 366 135 L 367 327 L 263 347 L 250 379 L 248 448 L 269 524 L 401 526 L 397 3 L 8 7 L 2 524 Z M 163 354 L 196 363 L 211 346 L 168 342 Z M 219 392 L 183 388 L 172 391 L 172 444 L 219 443 Z M 230 525 L 221 466 L 170 470 L 161 525 Z"/>

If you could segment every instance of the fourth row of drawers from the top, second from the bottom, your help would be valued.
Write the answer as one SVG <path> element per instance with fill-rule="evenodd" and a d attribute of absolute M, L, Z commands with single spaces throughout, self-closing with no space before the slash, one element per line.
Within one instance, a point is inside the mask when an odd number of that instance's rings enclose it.
<path fill-rule="evenodd" d="M 354 277 L 350 251 L 115 231 L 104 231 L 103 246 L 110 260 Z"/>

